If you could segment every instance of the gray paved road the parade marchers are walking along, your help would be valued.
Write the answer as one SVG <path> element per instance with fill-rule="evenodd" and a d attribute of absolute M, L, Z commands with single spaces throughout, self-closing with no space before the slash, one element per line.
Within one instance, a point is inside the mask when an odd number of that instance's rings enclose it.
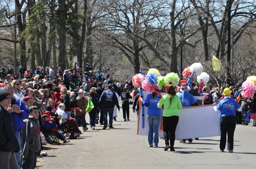
<path fill-rule="evenodd" d="M 121 104 L 120 104 L 121 105 Z M 70 144 L 54 145 L 39 168 L 47 169 L 241 169 L 256 167 L 256 127 L 237 125 L 234 153 L 218 152 L 219 138 L 200 138 L 192 143 L 175 141 L 176 152 L 148 146 L 147 136 L 136 135 L 137 118 L 123 121 L 122 110 L 114 129 L 87 130 Z M 89 121 L 89 115 L 86 115 Z M 203 127 L 203 126 L 202 126 Z M 83 154 L 84 152 L 84 154 Z"/>

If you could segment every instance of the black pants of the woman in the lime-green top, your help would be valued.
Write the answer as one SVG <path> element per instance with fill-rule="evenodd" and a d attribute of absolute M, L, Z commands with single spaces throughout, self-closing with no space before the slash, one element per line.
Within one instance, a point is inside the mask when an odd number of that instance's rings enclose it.
<path fill-rule="evenodd" d="M 163 116 L 163 137 L 166 143 L 166 146 L 169 146 L 169 140 L 170 140 L 170 146 L 174 146 L 175 141 L 175 131 L 177 124 L 179 122 L 179 116 L 173 115 L 170 117 L 164 117 Z"/>

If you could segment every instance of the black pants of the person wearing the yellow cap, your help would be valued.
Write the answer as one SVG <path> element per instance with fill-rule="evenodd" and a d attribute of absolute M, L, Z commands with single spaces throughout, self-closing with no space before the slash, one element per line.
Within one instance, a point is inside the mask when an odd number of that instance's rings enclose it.
<path fill-rule="evenodd" d="M 220 120 L 221 125 L 221 141 L 220 141 L 220 149 L 224 150 L 226 147 L 227 140 L 227 148 L 233 150 L 234 148 L 234 132 L 236 129 L 236 116 L 227 115 L 222 116 Z"/>

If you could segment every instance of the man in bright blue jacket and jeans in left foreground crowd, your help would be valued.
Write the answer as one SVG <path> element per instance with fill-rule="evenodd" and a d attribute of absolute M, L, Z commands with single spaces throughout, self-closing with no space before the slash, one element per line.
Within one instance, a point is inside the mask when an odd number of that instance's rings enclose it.
<path fill-rule="evenodd" d="M 20 131 L 24 127 L 23 120 L 27 119 L 29 117 L 29 109 L 26 106 L 26 104 L 20 100 L 17 96 L 14 96 L 14 90 L 13 87 L 10 84 L 7 84 L 4 86 L 4 89 L 11 93 L 12 100 L 11 100 L 11 106 L 7 108 L 7 111 L 11 114 L 12 117 L 12 123 L 14 125 L 14 132 L 15 136 L 19 142 L 20 151 L 16 152 L 16 158 L 19 168 L 21 168 L 21 138 L 20 138 Z"/>

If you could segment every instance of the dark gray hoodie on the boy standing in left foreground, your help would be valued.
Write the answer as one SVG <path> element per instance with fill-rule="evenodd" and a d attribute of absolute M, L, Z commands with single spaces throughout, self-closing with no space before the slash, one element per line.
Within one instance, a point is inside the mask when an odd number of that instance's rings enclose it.
<path fill-rule="evenodd" d="M 25 123 L 22 129 L 23 158 L 27 158 L 29 151 L 41 151 L 40 124 L 38 120 L 31 115 L 29 115 L 28 119 L 23 121 Z"/>

